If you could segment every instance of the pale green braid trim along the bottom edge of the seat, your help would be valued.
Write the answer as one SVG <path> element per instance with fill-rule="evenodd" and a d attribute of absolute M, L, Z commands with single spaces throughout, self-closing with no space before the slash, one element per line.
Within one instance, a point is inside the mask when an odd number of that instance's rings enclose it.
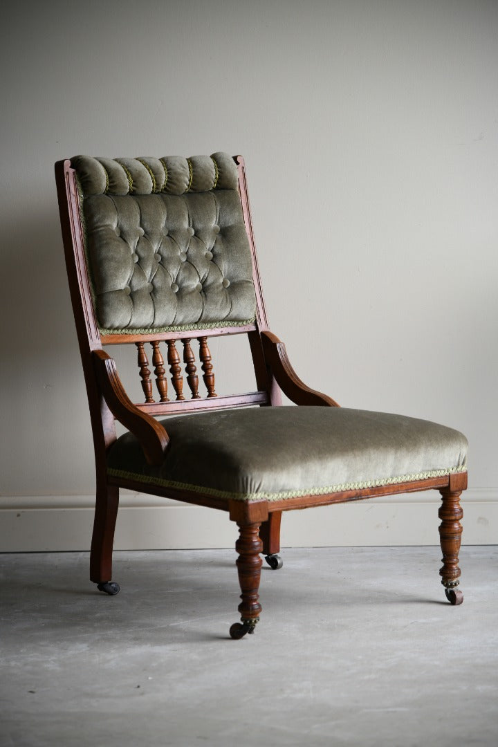
<path fill-rule="evenodd" d="M 401 477 L 385 477 L 380 480 L 364 480 L 359 483 L 338 483 L 337 485 L 327 485 L 320 488 L 307 488 L 304 490 L 283 490 L 277 493 L 268 493 L 265 491 L 257 493 L 231 493 L 225 490 L 215 488 L 204 488 L 200 485 L 190 485 L 189 483 L 178 483 L 175 480 L 164 480 L 162 477 L 149 477 L 149 475 L 127 472 L 125 470 L 108 468 L 108 474 L 111 477 L 123 477 L 128 480 L 137 480 L 139 483 L 149 485 L 161 485 L 166 488 L 177 488 L 178 490 L 188 490 L 193 493 L 202 495 L 212 495 L 214 498 L 225 498 L 226 500 L 241 500 L 244 503 L 251 503 L 255 500 L 288 500 L 289 498 L 302 498 L 304 495 L 328 495 L 329 493 L 342 493 L 346 490 L 361 490 L 364 488 L 380 488 L 385 485 L 396 485 L 397 483 L 411 483 L 416 480 L 430 480 L 431 477 L 444 477 L 446 474 L 455 474 L 466 472 L 467 466 L 451 467 L 449 469 L 437 469 L 427 472 L 417 472 L 417 474 L 404 474 Z"/>

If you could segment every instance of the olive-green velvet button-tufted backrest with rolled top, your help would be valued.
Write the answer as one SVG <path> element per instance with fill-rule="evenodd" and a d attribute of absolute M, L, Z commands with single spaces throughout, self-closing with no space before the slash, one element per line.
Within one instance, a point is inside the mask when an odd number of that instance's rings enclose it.
<path fill-rule="evenodd" d="M 252 256 L 231 156 L 80 155 L 71 166 L 101 334 L 254 320 Z"/>

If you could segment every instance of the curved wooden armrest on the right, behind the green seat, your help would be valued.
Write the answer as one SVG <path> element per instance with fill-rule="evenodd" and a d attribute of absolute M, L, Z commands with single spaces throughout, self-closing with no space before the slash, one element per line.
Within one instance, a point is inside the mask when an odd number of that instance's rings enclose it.
<path fill-rule="evenodd" d="M 339 407 L 332 397 L 310 389 L 297 376 L 287 358 L 287 350 L 273 332 L 261 332 L 264 358 L 281 391 L 296 405 L 325 405 Z"/>

